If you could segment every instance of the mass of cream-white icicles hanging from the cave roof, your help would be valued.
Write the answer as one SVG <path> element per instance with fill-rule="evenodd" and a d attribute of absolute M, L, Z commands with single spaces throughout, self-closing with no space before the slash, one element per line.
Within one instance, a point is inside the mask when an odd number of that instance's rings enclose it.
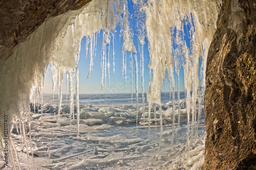
<path fill-rule="evenodd" d="M 67 75 L 66 79 L 69 80 L 70 89 L 70 118 L 74 118 L 74 85 L 76 85 L 77 133 L 79 135 L 79 71 L 77 63 L 79 60 L 81 39 L 84 36 L 87 37 L 86 52 L 90 58 L 89 78 L 90 71 L 93 67 L 93 60 L 96 57 L 97 37 L 99 36 L 99 31 L 103 29 L 100 63 L 101 85 L 103 89 L 106 86 L 107 79 L 110 83 L 110 57 L 112 57 L 113 71 L 115 71 L 114 38 L 115 28 L 119 26 L 121 28 L 119 36 L 123 37 L 121 56 L 122 75 L 125 77 L 126 87 L 126 55 L 129 52 L 131 76 L 133 75 L 133 67 L 135 71 L 137 111 L 139 72 L 137 51 L 133 43 L 134 33 L 139 42 L 138 50 L 140 51 L 143 112 L 143 46 L 145 43 L 144 39 L 147 38 L 148 40 L 148 51 L 150 52 L 150 64 L 148 65 L 150 69 L 150 87 L 147 91 L 147 102 L 149 112 L 151 112 L 152 108 L 156 112 L 156 107 L 160 110 L 160 142 L 162 134 L 162 109 L 160 100 L 162 82 L 168 79 L 170 94 L 172 94 L 173 142 L 175 137 L 176 109 L 178 109 L 176 133 L 178 133 L 180 123 L 180 105 L 175 106 L 174 96 L 175 90 L 177 90 L 179 103 L 179 70 L 181 65 L 183 66 L 188 124 L 186 149 L 189 150 L 189 143 L 191 143 L 197 134 L 197 125 L 200 120 L 205 89 L 204 77 L 207 51 L 217 27 L 217 14 L 219 13 L 221 2 L 209 2 L 206 0 L 133 0 L 133 19 L 135 19 L 136 23 L 135 30 L 131 28 L 129 20 L 131 16 L 129 14 L 127 0 L 107 0 L 105 2 L 93 0 L 89 5 L 80 10 L 69 11 L 57 17 L 50 18 L 32 33 L 25 42 L 19 43 L 14 49 L 1 48 L 1 55 L 6 59 L 5 64 L 1 66 L 7 70 L 5 74 L 0 75 L 1 80 L 10 80 L 13 83 L 10 85 L 8 82 L 1 81 L 2 92 L 0 93 L 0 99 L 5 99 L 5 101 L 1 101 L 3 106 L 0 110 L 1 117 L 4 114 L 8 114 L 10 119 L 17 120 L 16 123 L 19 124 L 20 134 L 24 136 L 25 141 L 26 133 L 24 133 L 25 129 L 23 126 L 27 121 L 30 121 L 29 104 L 35 103 L 36 97 L 37 100 L 39 98 L 41 100 L 42 114 L 44 72 L 50 63 L 52 68 L 53 92 L 55 91 L 55 86 L 58 85 L 58 117 L 61 113 L 62 83 L 65 72 Z M 186 42 L 184 39 L 185 35 L 189 37 L 189 42 Z M 110 44 L 112 49 L 110 49 Z M 110 51 L 112 51 L 112 56 L 110 56 Z M 201 68 L 199 68 L 200 57 L 202 58 Z M 11 65 L 14 65 L 15 69 L 7 69 Z M 175 89 L 174 71 L 177 74 L 177 89 Z M 198 78 L 198 71 L 200 71 L 200 79 Z M 131 78 L 131 80 L 133 79 Z M 192 94 L 190 93 L 191 89 Z M 13 99 L 9 96 L 17 96 L 17 98 Z M 10 103 L 18 107 L 11 107 Z M 191 122 L 190 113 L 192 115 Z M 24 115 L 28 115 L 28 117 L 25 118 Z M 150 130 L 151 114 L 148 115 Z M 3 119 L 1 118 L 0 120 L 3 123 Z M 42 121 L 41 124 L 43 124 Z M 11 132 L 11 127 L 9 130 Z M 0 135 L 3 140 L 2 132 L 1 130 Z M 15 150 L 15 147 L 13 147 L 13 150 Z"/>

